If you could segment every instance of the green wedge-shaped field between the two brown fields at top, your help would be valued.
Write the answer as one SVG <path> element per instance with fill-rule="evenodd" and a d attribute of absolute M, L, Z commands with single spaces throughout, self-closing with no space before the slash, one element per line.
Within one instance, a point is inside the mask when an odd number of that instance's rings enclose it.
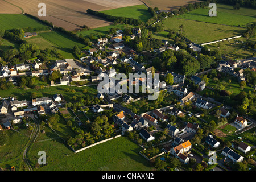
<path fill-rule="evenodd" d="M 152 17 L 145 5 L 121 7 L 117 9 L 101 11 L 101 13 L 118 17 L 140 19 L 143 22 L 146 22 Z"/>

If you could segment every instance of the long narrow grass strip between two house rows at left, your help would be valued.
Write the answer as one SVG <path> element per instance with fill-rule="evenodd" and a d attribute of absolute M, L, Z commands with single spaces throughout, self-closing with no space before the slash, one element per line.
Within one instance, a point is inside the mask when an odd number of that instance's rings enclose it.
<path fill-rule="evenodd" d="M 65 89 L 69 90 L 75 90 L 75 93 L 72 93 L 70 91 L 65 91 Z M 24 100 L 26 99 L 27 101 L 31 100 L 31 93 L 36 92 L 39 94 L 40 97 L 52 97 L 54 94 L 59 93 L 62 94 L 63 97 L 67 102 L 72 102 L 73 101 L 73 96 L 76 96 L 77 98 L 79 97 L 84 97 L 86 94 L 97 94 L 97 86 L 86 86 L 86 89 L 88 90 L 87 93 L 83 93 L 82 91 L 85 88 L 81 87 L 76 87 L 76 86 L 68 86 L 68 85 L 63 85 L 63 86 L 51 86 L 51 87 L 44 87 L 43 89 L 35 90 L 35 89 L 22 89 L 22 88 L 13 88 L 9 90 L 1 90 L 0 92 L 0 97 L 6 98 L 6 97 L 16 97 L 17 100 Z"/>

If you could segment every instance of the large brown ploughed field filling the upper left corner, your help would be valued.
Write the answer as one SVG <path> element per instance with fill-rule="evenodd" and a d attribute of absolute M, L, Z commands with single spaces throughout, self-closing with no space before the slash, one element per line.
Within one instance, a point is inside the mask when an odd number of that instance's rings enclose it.
<path fill-rule="evenodd" d="M 38 16 L 38 4 L 41 2 L 41 0 L 0 0 L 0 13 L 22 13 L 23 9 L 24 13 Z M 101 11 L 142 4 L 139 0 L 45 0 L 43 3 L 46 4 L 46 17 L 39 18 L 69 31 L 79 29 L 79 26 L 83 25 L 97 28 L 112 24 L 86 14 L 87 9 Z"/>

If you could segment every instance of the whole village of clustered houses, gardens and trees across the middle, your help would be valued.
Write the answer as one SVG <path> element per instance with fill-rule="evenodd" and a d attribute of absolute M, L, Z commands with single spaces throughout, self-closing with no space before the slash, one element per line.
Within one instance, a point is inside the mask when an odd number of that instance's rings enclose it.
<path fill-rule="evenodd" d="M 139 28 L 133 28 L 132 32 L 130 39 L 141 36 Z M 237 80 L 238 85 L 241 82 L 245 82 L 246 77 L 243 72 L 245 72 L 245 69 L 255 71 L 255 59 L 220 61 L 216 68 L 196 73 L 191 77 L 172 71 L 159 72 L 154 66 L 148 67 L 150 63 L 135 61 L 135 57 L 138 60 L 138 57 L 143 54 L 137 55 L 134 49 L 123 42 L 122 38 L 125 35 L 122 30 L 118 30 L 116 33 L 110 40 L 108 38 L 97 39 L 94 44 L 95 48 L 89 49 L 88 56 L 82 57 L 80 60 L 56 60 L 48 68 L 44 67 L 44 69 L 42 69 L 44 63 L 39 59 L 15 64 L 11 67 L 1 65 L 0 77 L 1 79 L 5 78 L 6 82 L 12 82 L 13 85 L 18 86 L 20 85 L 18 83 L 19 79 L 23 76 L 49 77 L 58 73 L 61 77 L 51 80 L 46 87 L 68 85 L 72 88 L 72 86 L 77 86 L 72 85 L 72 82 L 85 81 L 87 84 L 79 86 L 86 88 L 89 85 L 98 85 L 101 81 L 99 79 L 101 73 L 106 73 L 109 77 L 115 77 L 117 73 L 122 73 L 120 68 L 125 68 L 126 75 L 128 73 L 145 73 L 146 75 L 157 73 L 160 75 L 157 85 L 161 95 L 158 101 L 161 104 L 152 101 L 153 103 L 151 104 L 153 106 L 147 107 L 143 112 L 138 112 L 139 109 L 134 110 L 131 107 L 137 107 L 136 103 L 147 102 L 148 94 L 141 93 L 97 93 L 92 99 L 96 100 L 98 98 L 97 103 L 92 102 L 89 105 L 77 106 L 76 109 L 69 105 L 69 102 L 65 100 L 62 94 L 57 92 L 51 96 L 35 96 L 31 100 L 17 100 L 15 97 L 10 96 L 1 98 L 0 132 L 1 130 L 13 129 L 15 125 L 23 122 L 23 118 L 31 117 L 31 114 L 35 116 L 32 119 L 45 119 L 54 114 L 60 114 L 65 118 L 65 115 L 71 113 L 72 118 L 80 127 L 80 131 L 84 130 L 84 127 L 88 125 L 87 121 L 92 123 L 94 119 L 104 119 L 103 115 L 108 115 L 107 120 L 111 125 L 109 129 L 102 131 L 98 127 L 90 127 L 90 129 L 94 130 L 93 133 L 96 134 L 96 137 L 100 138 L 105 135 L 105 139 L 108 139 L 110 136 L 125 135 L 131 140 L 136 140 L 143 147 L 140 154 L 148 160 L 171 154 L 183 164 L 195 163 L 195 161 L 201 164 L 203 161 L 203 163 L 211 166 L 211 164 L 217 165 L 218 163 L 218 167 L 213 165 L 211 169 L 222 170 L 222 168 L 230 169 L 229 166 L 226 166 L 228 161 L 237 163 L 243 162 L 245 159 L 255 159 L 254 152 L 252 152 L 255 151 L 255 146 L 249 146 L 248 140 L 243 142 L 242 138 L 234 137 L 230 143 L 221 139 L 217 133 L 213 133 L 217 127 L 226 125 L 234 129 L 234 135 L 251 129 L 255 130 L 255 120 L 248 115 L 238 114 L 239 112 L 232 105 L 229 105 L 229 102 L 221 103 L 211 96 L 209 97 L 209 93 L 204 93 L 205 89 L 215 89 L 207 86 L 209 82 L 207 77 L 209 75 L 216 74 L 216 76 L 232 77 L 232 79 Z M 26 34 L 26 36 L 30 35 Z M 36 35 L 33 34 L 31 36 Z M 104 47 L 107 44 L 108 47 L 112 48 L 108 48 L 110 51 L 107 52 L 108 55 L 106 57 L 101 57 L 97 52 L 105 49 Z M 200 52 L 203 48 L 195 43 L 187 44 L 187 46 L 196 52 Z M 152 55 L 159 56 L 167 50 L 171 52 L 179 51 L 180 48 L 177 45 L 169 44 L 167 40 L 162 40 L 159 49 L 144 52 L 151 52 Z M 117 72 L 110 72 L 111 68 L 116 68 Z M 118 82 L 122 84 L 118 80 L 114 84 L 118 84 Z M 134 80 L 134 85 L 141 86 L 141 82 L 142 80 Z M 250 92 L 253 92 L 255 96 L 255 88 L 251 88 Z M 169 97 L 171 97 L 171 101 L 167 101 Z M 161 99 L 162 101 L 160 101 Z M 79 110 L 80 116 L 78 116 L 77 111 L 72 109 Z M 82 121 L 83 119 L 84 121 Z M 47 123 L 47 121 L 44 122 Z M 88 129 L 84 131 L 88 131 Z M 205 133 L 204 135 L 202 134 L 203 132 Z M 136 133 L 139 134 L 141 139 L 131 137 Z M 97 143 L 98 140 L 94 139 L 94 142 Z M 76 140 L 71 142 L 69 138 L 67 141 L 69 147 L 75 152 L 81 151 L 81 148 L 88 147 L 94 142 L 84 142 L 77 145 Z M 156 156 L 152 156 L 150 150 L 155 146 L 159 150 L 156 152 Z M 202 147 L 205 150 L 207 148 L 209 155 L 201 154 L 201 151 L 204 151 Z M 219 155 L 210 160 L 212 154 L 209 151 L 216 151 Z M 161 160 L 164 161 L 164 157 Z"/>

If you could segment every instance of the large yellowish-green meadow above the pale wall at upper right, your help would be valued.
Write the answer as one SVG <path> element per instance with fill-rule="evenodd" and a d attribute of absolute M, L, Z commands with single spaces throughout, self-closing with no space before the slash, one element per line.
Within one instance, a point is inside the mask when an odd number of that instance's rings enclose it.
<path fill-rule="evenodd" d="M 242 35 L 246 31 L 245 28 L 240 27 L 180 19 L 179 16 L 163 20 L 164 30 L 180 31 L 181 33 L 181 29 L 179 28 L 181 25 L 184 26 L 182 34 L 192 42 L 198 44 Z M 164 31 L 154 33 L 153 35 L 157 36 L 158 39 L 167 38 L 166 32 Z"/>

